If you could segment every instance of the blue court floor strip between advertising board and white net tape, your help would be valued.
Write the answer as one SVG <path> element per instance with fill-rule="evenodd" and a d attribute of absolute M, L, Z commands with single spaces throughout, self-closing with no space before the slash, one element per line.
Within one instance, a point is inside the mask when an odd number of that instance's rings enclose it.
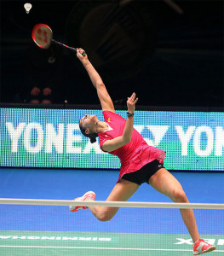
<path fill-rule="evenodd" d="M 97 201 L 105 201 L 118 181 L 118 171 L 0 169 L 1 198 L 72 200 L 93 190 Z M 171 172 L 192 203 L 224 203 L 224 172 Z M 129 201 L 170 202 L 146 183 Z"/>

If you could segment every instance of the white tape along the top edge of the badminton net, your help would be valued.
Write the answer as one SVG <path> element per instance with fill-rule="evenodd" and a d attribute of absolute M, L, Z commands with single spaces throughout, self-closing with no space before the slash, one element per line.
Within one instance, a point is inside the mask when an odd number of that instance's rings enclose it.
<path fill-rule="evenodd" d="M 0 205 L 38 205 L 38 206 L 80 206 L 80 207 L 135 207 L 135 208 L 179 208 L 224 210 L 224 204 L 208 203 L 168 203 L 136 201 L 68 201 L 0 198 Z"/>

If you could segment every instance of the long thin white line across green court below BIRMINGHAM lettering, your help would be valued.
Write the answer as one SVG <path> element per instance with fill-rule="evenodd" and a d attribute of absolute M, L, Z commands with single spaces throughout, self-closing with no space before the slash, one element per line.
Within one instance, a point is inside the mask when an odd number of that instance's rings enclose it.
<path fill-rule="evenodd" d="M 66 249 L 100 249 L 100 250 L 134 250 L 134 251 L 171 251 L 171 252 L 192 252 L 187 249 L 153 249 L 153 248 L 116 248 L 116 247 L 42 247 L 42 246 L 15 246 L 0 245 L 0 247 L 28 247 L 28 248 L 66 248 Z M 224 253 L 224 250 L 215 250 L 216 253 Z"/>

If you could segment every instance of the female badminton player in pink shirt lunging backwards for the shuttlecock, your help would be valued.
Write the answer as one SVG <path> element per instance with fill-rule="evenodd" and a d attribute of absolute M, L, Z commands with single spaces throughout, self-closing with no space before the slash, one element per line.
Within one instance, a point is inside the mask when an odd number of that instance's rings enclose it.
<path fill-rule="evenodd" d="M 135 92 L 128 97 L 127 119 L 123 119 L 115 113 L 105 84 L 90 63 L 88 55 L 82 55 L 83 52 L 83 49 L 77 49 L 77 56 L 95 86 L 104 120 L 99 120 L 95 115 L 85 114 L 79 121 L 80 130 L 83 136 L 89 137 L 91 143 L 95 143 L 96 137 L 99 137 L 101 150 L 117 155 L 121 161 L 118 183 L 115 184 L 106 201 L 127 201 L 141 183 L 148 183 L 158 192 L 169 196 L 172 201 L 188 203 L 181 183 L 163 166 L 165 152 L 147 145 L 141 134 L 133 128 L 135 104 L 138 101 Z M 92 191 L 75 199 L 75 201 L 94 200 L 95 193 Z M 70 211 L 76 212 L 86 208 L 88 207 L 71 206 Z M 101 221 L 110 220 L 118 212 L 117 207 L 89 207 L 89 210 Z M 198 255 L 215 250 L 214 245 L 200 239 L 192 209 L 181 209 L 180 211 L 194 242 L 193 254 Z"/>

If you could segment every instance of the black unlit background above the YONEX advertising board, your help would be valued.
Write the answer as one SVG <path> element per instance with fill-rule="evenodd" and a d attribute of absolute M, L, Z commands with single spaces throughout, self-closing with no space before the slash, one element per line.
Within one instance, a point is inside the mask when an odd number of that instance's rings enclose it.
<path fill-rule="evenodd" d="M 1 1 L 0 102 L 49 86 L 54 103 L 99 103 L 74 52 L 33 43 L 32 27 L 45 23 L 86 50 L 115 104 L 135 91 L 142 106 L 224 106 L 223 1 L 173 1 L 182 14 L 162 0 L 27 2 L 29 15 L 25 1 Z"/>

